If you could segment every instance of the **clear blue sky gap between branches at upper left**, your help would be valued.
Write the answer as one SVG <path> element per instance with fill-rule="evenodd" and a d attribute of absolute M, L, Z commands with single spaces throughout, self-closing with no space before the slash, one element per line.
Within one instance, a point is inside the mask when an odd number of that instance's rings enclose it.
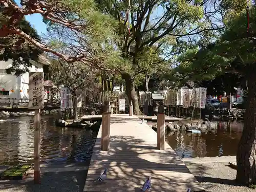
<path fill-rule="evenodd" d="M 20 6 L 20 0 L 14 0 Z M 40 14 L 26 15 L 26 20 L 31 26 L 38 32 L 38 35 L 42 33 L 46 34 L 46 25 L 42 22 L 42 16 Z"/>

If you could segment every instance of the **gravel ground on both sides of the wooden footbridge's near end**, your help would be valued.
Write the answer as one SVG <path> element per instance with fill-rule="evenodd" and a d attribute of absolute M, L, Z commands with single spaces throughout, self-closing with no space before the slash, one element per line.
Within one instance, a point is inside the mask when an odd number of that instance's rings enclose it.
<path fill-rule="evenodd" d="M 183 161 L 207 192 L 255 192 L 256 189 L 237 186 L 236 170 L 227 166 L 234 156 L 217 158 L 185 158 Z M 226 162 L 225 162 L 226 161 Z M 0 181 L 1 192 L 82 192 L 87 176 L 87 166 L 63 168 L 51 166 L 42 170 L 41 184 L 34 185 L 33 173 L 23 181 Z M 56 171 L 56 169 L 58 169 Z M 69 171 L 66 171 L 68 170 Z M 78 170 L 80 169 L 80 170 Z M 0 167 L 4 170 L 4 167 Z M 159 191 L 160 192 L 160 191 Z"/>

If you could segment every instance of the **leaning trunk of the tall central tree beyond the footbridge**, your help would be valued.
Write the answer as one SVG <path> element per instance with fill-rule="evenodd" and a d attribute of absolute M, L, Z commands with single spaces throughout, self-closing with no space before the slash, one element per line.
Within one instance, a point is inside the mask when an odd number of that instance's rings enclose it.
<path fill-rule="evenodd" d="M 134 80 L 129 74 L 122 74 L 122 78 L 125 80 L 125 92 L 129 99 L 129 104 L 133 101 L 133 113 L 134 115 L 142 115 L 140 111 L 138 96 L 135 91 Z"/>

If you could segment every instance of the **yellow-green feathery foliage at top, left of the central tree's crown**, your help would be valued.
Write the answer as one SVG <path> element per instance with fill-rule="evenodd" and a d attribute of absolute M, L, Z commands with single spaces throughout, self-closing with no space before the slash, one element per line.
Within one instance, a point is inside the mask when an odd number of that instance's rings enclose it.
<path fill-rule="evenodd" d="M 121 53 L 115 48 L 116 22 L 97 10 L 93 0 L 61 1 L 63 18 L 81 26 L 77 30 L 45 20 L 48 25 L 48 46 L 69 56 L 84 55 L 84 65 L 114 71 L 122 69 Z"/>

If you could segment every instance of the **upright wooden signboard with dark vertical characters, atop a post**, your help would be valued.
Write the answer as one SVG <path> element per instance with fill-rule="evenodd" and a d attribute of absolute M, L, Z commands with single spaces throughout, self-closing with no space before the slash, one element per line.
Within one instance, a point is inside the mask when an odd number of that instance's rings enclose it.
<path fill-rule="evenodd" d="M 29 72 L 29 109 L 44 108 L 44 73 Z"/>

